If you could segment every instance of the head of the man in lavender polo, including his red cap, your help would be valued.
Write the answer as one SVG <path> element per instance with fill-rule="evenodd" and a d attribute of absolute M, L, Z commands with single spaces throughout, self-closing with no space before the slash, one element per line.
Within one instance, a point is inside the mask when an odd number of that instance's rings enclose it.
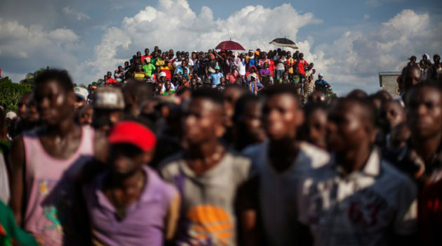
<path fill-rule="evenodd" d="M 107 164 L 112 174 L 126 177 L 140 171 L 154 155 L 155 134 L 145 125 L 134 121 L 116 124 L 109 133 Z"/>

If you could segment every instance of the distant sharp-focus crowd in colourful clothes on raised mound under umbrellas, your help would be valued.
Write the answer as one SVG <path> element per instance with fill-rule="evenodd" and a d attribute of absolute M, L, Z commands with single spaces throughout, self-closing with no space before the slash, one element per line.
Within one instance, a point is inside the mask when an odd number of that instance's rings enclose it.
<path fill-rule="evenodd" d="M 155 46 L 152 53 L 145 48 L 136 53 L 124 66 L 104 75 L 105 86 L 136 79 L 158 84 L 156 93 L 170 95 L 178 89 L 196 89 L 211 86 L 221 91 L 229 84 L 246 87 L 257 95 L 272 84 L 294 84 L 302 101 L 307 101 L 315 89 L 327 93 L 330 84 L 316 70 L 313 63 L 304 60 L 300 51 L 292 53 L 278 48 L 274 51 L 249 50 L 248 53 L 209 49 L 208 52 L 161 51 Z"/>

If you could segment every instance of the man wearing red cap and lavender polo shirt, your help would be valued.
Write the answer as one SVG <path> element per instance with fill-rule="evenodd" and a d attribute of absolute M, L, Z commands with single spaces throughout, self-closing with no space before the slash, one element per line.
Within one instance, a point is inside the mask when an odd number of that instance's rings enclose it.
<path fill-rule="evenodd" d="M 147 166 L 155 135 L 134 121 L 109 133 L 107 170 L 83 185 L 89 245 L 164 245 L 173 238 L 180 196 Z"/>

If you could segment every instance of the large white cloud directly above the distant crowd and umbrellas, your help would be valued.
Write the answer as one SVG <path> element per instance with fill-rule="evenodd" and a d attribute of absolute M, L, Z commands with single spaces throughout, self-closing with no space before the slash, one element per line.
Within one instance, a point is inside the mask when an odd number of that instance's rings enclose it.
<path fill-rule="evenodd" d="M 276 8 L 246 6 L 228 18 L 214 20 L 206 6 L 197 15 L 186 0 L 159 0 L 156 8 L 147 6 L 133 17 L 124 18 L 121 27 L 108 28 L 101 44 L 95 47 L 95 59 L 81 67 L 95 68 L 88 77 L 93 81 L 124 61 L 116 58 L 116 51 L 126 51 L 128 59 L 132 53 L 156 45 L 163 50 L 201 51 L 232 39 L 246 49 L 268 50 L 275 48 L 269 41 L 286 36 L 302 48 L 304 42 L 297 41 L 298 30 L 319 23 L 321 20 L 313 13 L 300 13 L 290 4 Z"/>

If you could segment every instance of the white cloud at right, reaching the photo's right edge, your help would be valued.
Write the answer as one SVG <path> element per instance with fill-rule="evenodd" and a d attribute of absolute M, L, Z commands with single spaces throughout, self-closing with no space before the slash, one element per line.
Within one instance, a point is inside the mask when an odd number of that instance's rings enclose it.
<path fill-rule="evenodd" d="M 428 13 L 403 10 L 375 32 L 348 31 L 314 50 L 316 67 L 329 82 L 339 84 L 338 92 L 363 88 L 376 91 L 378 72 L 400 71 L 406 58 L 441 47 L 441 24 L 430 21 Z"/>

